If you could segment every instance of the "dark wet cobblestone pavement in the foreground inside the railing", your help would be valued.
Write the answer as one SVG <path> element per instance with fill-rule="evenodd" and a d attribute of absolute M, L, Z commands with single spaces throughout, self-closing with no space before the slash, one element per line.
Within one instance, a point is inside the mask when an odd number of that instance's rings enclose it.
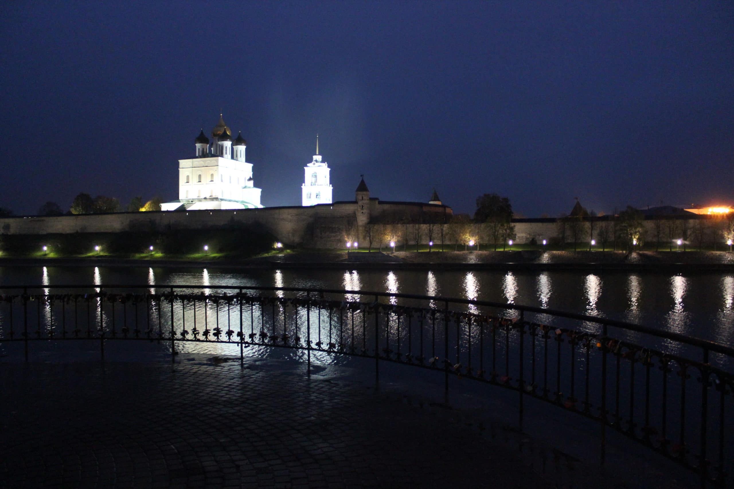
<path fill-rule="evenodd" d="M 17 363 L 0 380 L 0 487 L 551 487 L 450 411 L 302 368 Z"/>

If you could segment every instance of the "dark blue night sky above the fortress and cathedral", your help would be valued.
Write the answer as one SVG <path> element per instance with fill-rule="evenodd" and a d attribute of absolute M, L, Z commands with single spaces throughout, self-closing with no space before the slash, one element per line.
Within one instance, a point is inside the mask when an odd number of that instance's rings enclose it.
<path fill-rule="evenodd" d="M 734 203 L 734 3 L 5 2 L 0 207 L 177 198 L 219 109 L 266 206 L 321 135 L 335 199 L 526 216 Z"/>

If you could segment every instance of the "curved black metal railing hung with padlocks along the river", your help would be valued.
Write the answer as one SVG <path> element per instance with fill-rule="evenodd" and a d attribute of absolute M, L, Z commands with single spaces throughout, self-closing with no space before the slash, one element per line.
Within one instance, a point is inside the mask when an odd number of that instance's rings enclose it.
<path fill-rule="evenodd" d="M 107 341 L 139 339 L 167 345 L 174 361 L 192 344 L 239 348 L 241 362 L 246 348 L 289 348 L 305 356 L 309 375 L 312 353 L 373 359 L 377 380 L 380 362 L 390 361 L 442 372 L 447 392 L 451 375 L 517 391 L 520 427 L 526 397 L 592 419 L 600 426 L 602 461 L 612 429 L 696 472 L 702 487 L 725 487 L 733 468 L 726 419 L 734 348 L 704 339 L 517 304 L 358 290 L 0 290 L 0 343 L 23 342 L 26 359 L 37 340 L 95 339 L 103 358 Z M 582 324 L 548 326 L 561 320 Z"/>

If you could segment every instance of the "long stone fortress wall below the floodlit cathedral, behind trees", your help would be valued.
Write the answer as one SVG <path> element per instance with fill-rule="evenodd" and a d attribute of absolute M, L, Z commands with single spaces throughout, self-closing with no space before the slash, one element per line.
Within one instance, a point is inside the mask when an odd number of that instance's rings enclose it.
<path fill-rule="evenodd" d="M 271 232 L 277 240 L 291 246 L 308 248 L 344 248 L 346 240 L 358 240 L 360 248 L 368 244 L 368 231 L 371 230 L 373 248 L 379 246 L 381 234 L 385 243 L 392 237 L 397 246 L 402 246 L 407 234 L 408 246 L 414 243 L 415 225 L 429 219 L 433 226 L 432 240 L 441 242 L 443 229 L 444 243 L 453 245 L 457 236 L 479 238 L 481 243 L 492 243 L 490 224 L 451 223 L 451 207 L 445 205 L 422 204 L 419 202 L 380 202 L 368 199 L 368 205 L 359 202 L 335 202 L 330 205 L 311 207 L 265 207 L 262 209 L 239 210 L 189 210 L 178 212 L 135 212 L 114 214 L 86 214 L 77 216 L 26 216 L 0 218 L 0 234 L 43 235 L 67 234 L 74 232 L 165 232 L 171 229 L 197 229 L 208 227 L 227 227 L 236 224 L 258 224 Z M 697 246 L 697 229 L 703 229 L 704 246 L 724 243 L 722 232 L 726 219 L 712 219 L 708 216 L 675 217 L 676 238 L 683 238 L 687 229 L 687 243 Z M 590 229 L 594 220 L 593 233 Z M 661 242 L 667 242 L 668 232 L 663 220 Z M 393 224 L 390 224 L 393 223 Z M 514 219 L 514 242 L 558 244 L 562 235 L 562 225 L 557 218 Z M 611 222 L 606 218 L 584 218 L 584 231 L 577 238 L 580 248 L 588 246 L 592 239 L 601 244 L 600 230 Z M 568 226 L 568 224 L 567 224 Z M 417 224 L 420 229 L 420 243 L 429 241 L 429 225 Z M 454 229 L 452 229 L 452 227 Z M 368 230 L 368 228 L 371 228 Z M 644 221 L 643 239 L 655 241 L 657 232 L 655 220 Z M 611 243 L 611 232 L 608 242 Z M 459 238 L 459 243 L 460 243 Z M 567 227 L 566 242 L 573 243 L 573 234 Z M 675 243 L 674 243 L 675 246 Z"/>

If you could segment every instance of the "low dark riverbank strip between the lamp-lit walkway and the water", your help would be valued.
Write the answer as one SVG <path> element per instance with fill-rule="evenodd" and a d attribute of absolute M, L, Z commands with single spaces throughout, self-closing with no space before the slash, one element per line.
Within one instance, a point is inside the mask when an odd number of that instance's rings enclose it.
<path fill-rule="evenodd" d="M 374 270 L 604 270 L 733 271 L 734 254 L 714 251 L 627 254 L 622 251 L 398 251 L 395 253 L 303 251 L 232 260 L 146 260 L 121 257 L 1 258 L 0 266 L 109 266 L 164 268 L 338 268 Z"/>

